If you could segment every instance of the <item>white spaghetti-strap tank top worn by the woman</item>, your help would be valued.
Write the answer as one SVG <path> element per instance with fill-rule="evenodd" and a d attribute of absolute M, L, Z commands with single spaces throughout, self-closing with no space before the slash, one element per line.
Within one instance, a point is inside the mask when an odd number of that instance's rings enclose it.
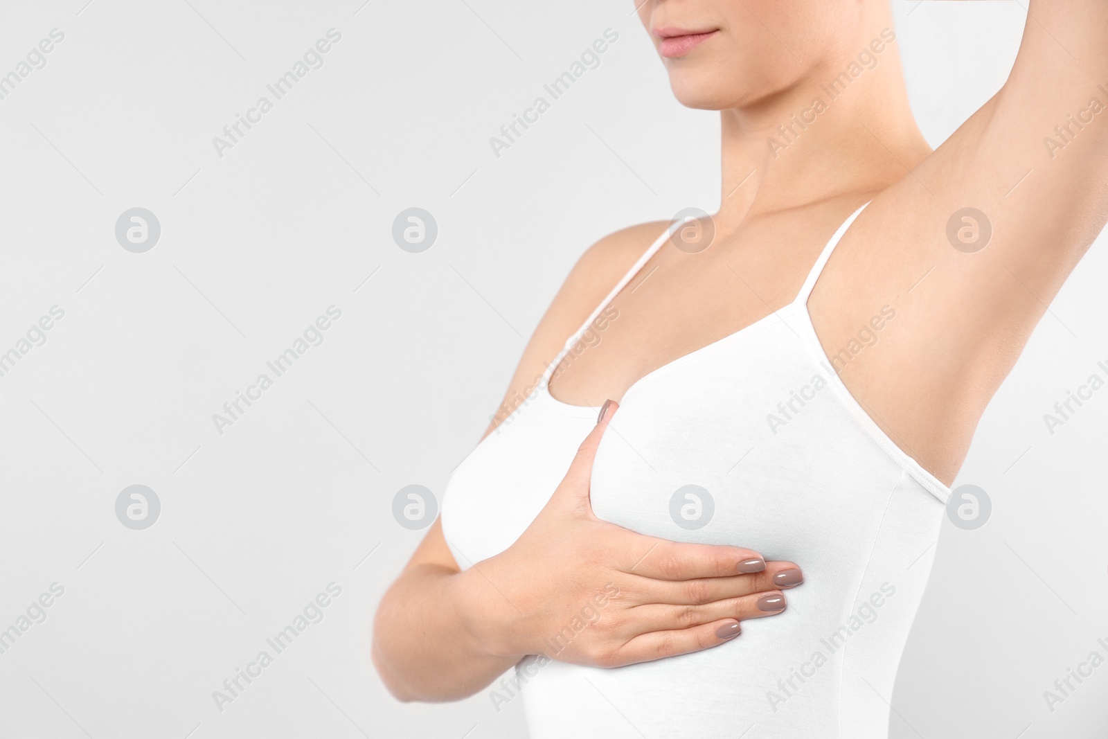
<path fill-rule="evenodd" d="M 804 583 L 787 592 L 782 614 L 745 620 L 738 638 L 702 651 L 614 669 L 525 658 L 488 692 L 497 710 L 523 701 L 532 739 L 888 736 L 950 490 L 881 431 L 833 369 L 894 311 L 833 366 L 812 327 L 808 296 L 862 208 L 790 305 L 632 386 L 593 468 L 601 519 L 790 560 Z M 462 568 L 507 548 L 564 476 L 597 410 L 555 400 L 550 376 L 671 229 L 454 470 L 442 530 Z"/>

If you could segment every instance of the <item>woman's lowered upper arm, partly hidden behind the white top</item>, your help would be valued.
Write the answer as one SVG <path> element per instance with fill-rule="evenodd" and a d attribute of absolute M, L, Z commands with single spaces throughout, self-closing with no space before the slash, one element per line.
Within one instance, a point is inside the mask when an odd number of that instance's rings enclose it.
<path fill-rule="evenodd" d="M 482 439 L 511 413 L 514 399 L 531 393 L 565 340 L 588 318 L 664 227 L 665 224 L 659 222 L 624 228 L 605 236 L 581 256 L 535 327 L 504 399 Z M 441 519 L 437 519 L 428 530 L 406 568 L 421 565 L 460 571 L 442 534 Z"/>

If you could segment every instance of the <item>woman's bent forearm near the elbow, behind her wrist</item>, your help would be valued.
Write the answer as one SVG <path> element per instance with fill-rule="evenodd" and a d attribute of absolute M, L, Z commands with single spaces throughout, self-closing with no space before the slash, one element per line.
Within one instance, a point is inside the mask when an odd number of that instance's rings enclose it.
<path fill-rule="evenodd" d="M 472 572 L 421 564 L 386 593 L 373 625 L 373 664 L 397 699 L 466 698 L 522 658 L 493 655 L 478 633 L 489 615 L 479 613 L 468 586 Z"/>

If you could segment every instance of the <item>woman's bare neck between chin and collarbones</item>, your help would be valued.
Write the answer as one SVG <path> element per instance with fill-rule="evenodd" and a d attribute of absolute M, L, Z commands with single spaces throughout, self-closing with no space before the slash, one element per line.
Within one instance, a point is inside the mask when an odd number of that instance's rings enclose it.
<path fill-rule="evenodd" d="M 909 105 L 891 22 L 876 28 L 802 83 L 721 112 L 717 233 L 752 216 L 884 189 L 931 153 Z"/>

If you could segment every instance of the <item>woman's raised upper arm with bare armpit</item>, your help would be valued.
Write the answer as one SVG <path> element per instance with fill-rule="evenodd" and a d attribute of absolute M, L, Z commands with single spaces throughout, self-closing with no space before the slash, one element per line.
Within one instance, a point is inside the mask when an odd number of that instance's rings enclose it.
<path fill-rule="evenodd" d="M 895 311 L 841 376 L 941 479 L 1108 219 L 1108 2 L 1029 9 L 1007 82 L 873 198 L 809 304 L 829 353 Z"/>

